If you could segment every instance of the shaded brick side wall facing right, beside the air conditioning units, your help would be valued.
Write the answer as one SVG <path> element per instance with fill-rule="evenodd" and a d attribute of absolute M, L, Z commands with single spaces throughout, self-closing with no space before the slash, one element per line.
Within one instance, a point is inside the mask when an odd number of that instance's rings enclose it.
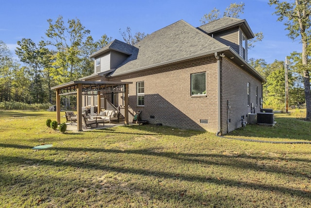
<path fill-rule="evenodd" d="M 243 67 L 232 63 L 228 58 L 223 58 L 221 70 L 221 114 L 222 132 L 228 132 L 227 128 L 227 100 L 229 106 L 229 131 L 242 127 L 241 116 L 247 121 L 247 114 L 252 112 L 248 106 L 247 82 L 250 83 L 250 101 L 256 107 L 255 113 L 260 112 L 259 98 L 262 97 L 262 85 L 254 76 L 243 70 Z M 256 105 L 256 86 L 258 87 L 258 105 Z"/>

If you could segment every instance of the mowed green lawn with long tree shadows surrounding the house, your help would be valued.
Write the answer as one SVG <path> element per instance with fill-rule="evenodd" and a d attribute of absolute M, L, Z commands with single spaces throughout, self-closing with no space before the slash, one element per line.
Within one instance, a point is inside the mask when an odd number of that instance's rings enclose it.
<path fill-rule="evenodd" d="M 153 125 L 62 134 L 48 118 L 56 113 L 0 112 L 1 208 L 311 207 L 311 144 Z M 226 137 L 311 140 L 310 122 L 276 121 Z M 42 144 L 53 146 L 31 149 Z"/>

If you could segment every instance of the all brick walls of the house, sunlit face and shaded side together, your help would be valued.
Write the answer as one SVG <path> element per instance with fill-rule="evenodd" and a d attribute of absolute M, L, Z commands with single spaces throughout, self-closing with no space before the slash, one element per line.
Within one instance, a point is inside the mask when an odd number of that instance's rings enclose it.
<path fill-rule="evenodd" d="M 207 95 L 191 96 L 190 75 L 202 72 L 207 73 Z M 94 81 L 99 79 L 133 82 L 129 85 L 129 106 L 134 112 L 141 110 L 142 119 L 150 123 L 208 132 L 218 131 L 217 60 L 214 56 L 200 57 L 110 79 L 92 78 Z M 136 82 L 140 81 L 144 81 L 145 86 L 144 106 L 137 106 L 136 103 Z M 220 102 L 223 133 L 228 132 L 227 119 L 230 120 L 229 131 L 233 131 L 241 127 L 241 116 L 247 121 L 247 114 L 252 112 L 247 101 L 247 82 L 251 87 L 251 103 L 254 103 L 257 113 L 260 111 L 259 99 L 262 97 L 261 82 L 227 57 L 222 58 Z M 118 96 L 116 106 L 122 105 L 122 94 L 116 96 Z M 110 95 L 105 97 L 111 99 Z M 229 117 L 227 100 L 230 102 Z M 200 119 L 207 120 L 207 123 L 201 123 Z"/>

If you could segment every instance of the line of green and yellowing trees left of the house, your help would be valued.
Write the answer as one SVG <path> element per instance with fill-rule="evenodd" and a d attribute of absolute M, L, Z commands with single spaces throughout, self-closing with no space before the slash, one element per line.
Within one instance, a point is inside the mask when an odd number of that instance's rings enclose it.
<path fill-rule="evenodd" d="M 94 63 L 88 56 L 111 40 L 103 35 L 95 41 L 79 19 L 65 22 L 60 16 L 48 23 L 40 42 L 17 41 L 20 62 L 0 40 L 0 102 L 54 103 L 51 87 L 92 74 Z"/>

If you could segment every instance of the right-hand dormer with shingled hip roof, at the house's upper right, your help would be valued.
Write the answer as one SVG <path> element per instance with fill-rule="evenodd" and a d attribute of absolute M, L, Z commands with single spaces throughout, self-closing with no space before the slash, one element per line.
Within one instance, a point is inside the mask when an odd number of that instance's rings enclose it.
<path fill-rule="evenodd" d="M 198 27 L 212 38 L 231 46 L 247 61 L 247 40 L 254 34 L 245 19 L 224 17 Z"/>

